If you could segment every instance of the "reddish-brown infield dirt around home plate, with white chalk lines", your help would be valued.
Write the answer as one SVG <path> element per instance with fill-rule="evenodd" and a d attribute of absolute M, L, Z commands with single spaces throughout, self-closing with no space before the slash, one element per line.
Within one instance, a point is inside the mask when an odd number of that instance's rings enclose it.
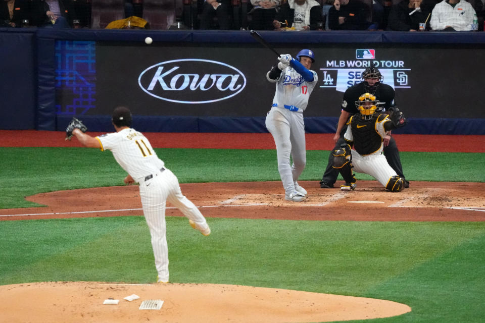
<path fill-rule="evenodd" d="M 300 182 L 309 193 L 304 202 L 284 200 L 281 182 L 181 184 L 182 192 L 206 217 L 351 220 L 485 221 L 485 183 L 412 182 L 399 193 L 376 181 L 359 181 L 357 189 L 321 189 L 317 181 Z M 0 209 L 0 220 L 59 219 L 142 215 L 137 186 L 115 186 L 41 193 L 27 200 L 46 207 Z M 116 198 L 114 198 L 116 197 Z M 167 216 L 182 216 L 167 205 Z"/>

